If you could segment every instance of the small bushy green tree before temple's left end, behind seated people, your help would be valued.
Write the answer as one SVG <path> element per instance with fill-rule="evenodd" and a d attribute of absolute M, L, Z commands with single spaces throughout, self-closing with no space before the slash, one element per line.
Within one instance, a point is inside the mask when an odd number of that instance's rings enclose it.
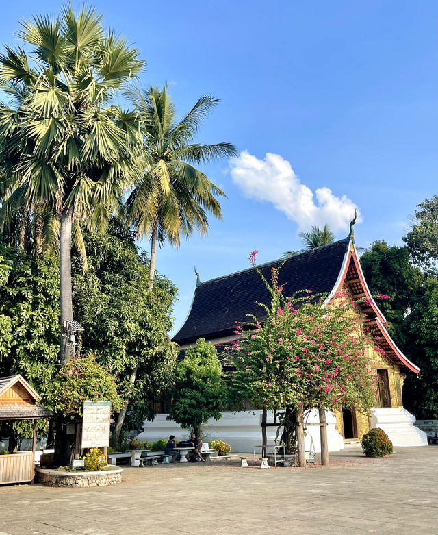
<path fill-rule="evenodd" d="M 201 426 L 209 418 L 220 419 L 226 403 L 226 386 L 216 348 L 204 338 L 185 349 L 185 358 L 177 364 L 175 393 L 168 420 L 180 423 L 201 435 Z"/>

